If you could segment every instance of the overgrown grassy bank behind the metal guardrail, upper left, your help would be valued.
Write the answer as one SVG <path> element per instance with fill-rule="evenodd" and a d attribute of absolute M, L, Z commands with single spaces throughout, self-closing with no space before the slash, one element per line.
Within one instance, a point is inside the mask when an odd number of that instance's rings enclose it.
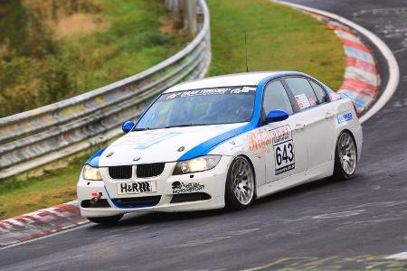
<path fill-rule="evenodd" d="M 60 41 L 47 28 L 45 19 L 30 17 L 33 23 L 26 23 L 24 29 L 35 33 L 37 39 L 28 34 L 15 38 L 24 40 L 25 46 L 12 47 L 8 54 L 0 55 L 0 117 L 71 98 L 147 70 L 180 51 L 190 40 L 185 30 L 160 31 L 163 22 L 172 23 L 162 0 L 97 2 L 98 8 L 87 14 L 100 21 L 100 29 L 85 36 Z M 35 14 L 23 5 L 20 8 Z M 46 6 L 43 9 L 48 11 Z M 14 10 L 10 8 L 9 12 Z M 13 21 L 9 21 L 0 20 L 0 26 L 11 26 Z M 42 27 L 37 30 L 30 28 L 32 25 Z M 25 33 L 17 26 L 10 35 Z M 8 37 L 2 39 L 0 35 L 0 49 L 4 45 L 1 41 L 8 41 Z M 47 42 L 42 45 L 39 41 Z"/>

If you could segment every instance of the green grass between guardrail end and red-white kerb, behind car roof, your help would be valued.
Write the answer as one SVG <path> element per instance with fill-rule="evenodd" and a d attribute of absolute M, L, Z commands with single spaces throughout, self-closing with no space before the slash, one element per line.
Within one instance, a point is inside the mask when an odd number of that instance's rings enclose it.
<path fill-rule="evenodd" d="M 266 0 L 207 0 L 213 60 L 210 75 L 244 72 L 244 31 L 249 70 L 298 70 L 341 85 L 342 44 L 332 30 L 308 14 Z"/>

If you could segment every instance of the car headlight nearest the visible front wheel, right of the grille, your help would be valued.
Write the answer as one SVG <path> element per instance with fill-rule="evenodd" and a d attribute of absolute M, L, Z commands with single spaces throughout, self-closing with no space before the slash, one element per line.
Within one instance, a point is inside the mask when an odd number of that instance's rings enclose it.
<path fill-rule="evenodd" d="M 221 160 L 221 155 L 206 155 L 175 164 L 173 175 L 198 173 L 213 169 Z"/>

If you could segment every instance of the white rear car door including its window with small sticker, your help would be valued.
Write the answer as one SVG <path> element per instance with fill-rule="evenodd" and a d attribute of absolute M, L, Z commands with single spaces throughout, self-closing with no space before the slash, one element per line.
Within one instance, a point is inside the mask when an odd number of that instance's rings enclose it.
<path fill-rule="evenodd" d="M 284 79 L 298 104 L 300 126 L 307 138 L 308 169 L 330 162 L 334 144 L 334 117 L 326 91 L 314 80 L 304 77 Z"/>

